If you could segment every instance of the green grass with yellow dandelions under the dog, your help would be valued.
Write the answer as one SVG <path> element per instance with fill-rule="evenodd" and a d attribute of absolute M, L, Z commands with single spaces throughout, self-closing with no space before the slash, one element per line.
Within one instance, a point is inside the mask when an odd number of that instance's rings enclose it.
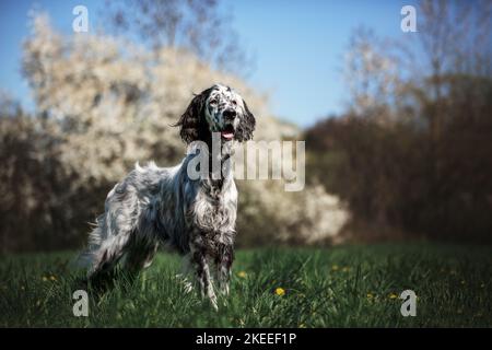
<path fill-rule="evenodd" d="M 160 254 L 74 317 L 74 253 L 0 258 L 1 327 L 491 327 L 492 247 L 426 244 L 238 250 L 231 295 L 214 312 Z M 244 271 L 244 273 L 242 272 Z M 54 277 L 51 279 L 51 277 Z M 276 289 L 285 290 L 277 295 Z M 418 295 L 417 316 L 398 298 Z M 224 303 L 227 303 L 224 305 Z"/>

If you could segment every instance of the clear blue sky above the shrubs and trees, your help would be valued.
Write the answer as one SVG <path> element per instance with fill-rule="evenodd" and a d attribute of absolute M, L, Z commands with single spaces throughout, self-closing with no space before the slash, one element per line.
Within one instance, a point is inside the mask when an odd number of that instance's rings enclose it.
<path fill-rule="evenodd" d="M 342 57 L 352 31 L 364 25 L 377 35 L 408 40 L 400 31 L 400 9 L 415 1 L 225 0 L 241 44 L 255 57 L 248 82 L 270 93 L 274 115 L 306 127 L 343 109 L 347 85 Z M 56 28 L 71 33 L 72 9 L 89 9 L 90 23 L 104 10 L 103 0 L 1 0 L 0 89 L 33 108 L 21 74 L 22 40 L 28 35 L 27 12 L 37 3 Z"/>

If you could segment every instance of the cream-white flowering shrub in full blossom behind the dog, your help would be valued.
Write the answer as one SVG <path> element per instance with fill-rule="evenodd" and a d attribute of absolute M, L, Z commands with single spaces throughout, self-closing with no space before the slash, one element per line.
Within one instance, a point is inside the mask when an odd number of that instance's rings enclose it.
<path fill-rule="evenodd" d="M 163 48 L 150 52 L 104 34 L 62 36 L 46 15 L 33 19 L 23 68 L 37 107 L 32 122 L 39 124 L 30 130 L 40 128 L 52 141 L 49 153 L 43 147 L 32 152 L 36 158 L 56 158 L 65 174 L 62 179 L 45 174 L 47 180 L 63 184 L 68 199 L 57 201 L 55 195 L 52 207 L 63 206 L 65 210 L 45 208 L 40 218 L 46 220 L 32 228 L 43 229 L 52 241 L 56 234 L 67 235 L 69 228 L 83 242 L 86 222 L 103 210 L 105 192 L 137 161 L 155 160 L 161 166 L 177 162 L 185 144 L 171 125 L 192 93 L 215 82 L 234 86 L 247 101 L 257 116 L 255 139 L 280 140 L 297 133 L 269 114 L 267 96 L 234 75 L 213 70 L 189 51 Z M 42 176 L 25 175 L 26 179 Z M 238 186 L 239 242 L 245 244 L 272 240 L 315 243 L 336 236 L 348 218 L 338 199 L 323 187 L 285 192 L 280 180 L 238 180 Z M 74 207 L 79 214 L 68 215 Z M 54 221 L 66 223 L 63 232 L 52 232 Z"/>

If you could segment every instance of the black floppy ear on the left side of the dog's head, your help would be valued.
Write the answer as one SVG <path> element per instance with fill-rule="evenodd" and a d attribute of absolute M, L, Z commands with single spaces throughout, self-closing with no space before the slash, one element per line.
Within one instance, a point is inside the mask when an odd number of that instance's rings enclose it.
<path fill-rule="evenodd" d="M 186 143 L 191 143 L 201 137 L 202 113 L 208 95 L 209 90 L 195 95 L 178 122 L 174 125 L 175 127 L 180 127 L 179 136 Z"/>

